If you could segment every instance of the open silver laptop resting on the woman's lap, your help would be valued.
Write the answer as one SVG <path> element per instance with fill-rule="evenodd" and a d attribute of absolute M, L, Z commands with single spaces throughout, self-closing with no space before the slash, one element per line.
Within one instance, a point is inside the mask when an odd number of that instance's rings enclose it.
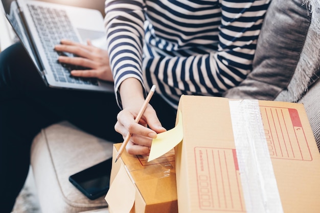
<path fill-rule="evenodd" d="M 87 39 L 106 48 L 103 16 L 98 10 L 36 0 L 2 0 L 5 15 L 27 50 L 47 86 L 54 88 L 113 92 L 113 83 L 70 75 L 72 69 L 86 69 L 57 61 L 54 45 L 61 39 L 86 43 Z"/>

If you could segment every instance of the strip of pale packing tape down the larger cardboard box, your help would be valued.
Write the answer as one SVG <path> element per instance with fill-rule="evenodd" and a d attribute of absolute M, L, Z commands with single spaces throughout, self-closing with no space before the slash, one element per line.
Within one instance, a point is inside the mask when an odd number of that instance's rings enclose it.
<path fill-rule="evenodd" d="M 257 100 L 229 101 L 248 213 L 283 213 Z"/>

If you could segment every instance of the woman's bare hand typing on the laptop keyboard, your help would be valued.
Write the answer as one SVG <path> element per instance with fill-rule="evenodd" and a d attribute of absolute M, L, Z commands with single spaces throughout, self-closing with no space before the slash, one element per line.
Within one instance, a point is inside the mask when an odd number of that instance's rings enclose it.
<path fill-rule="evenodd" d="M 60 44 L 55 45 L 54 50 L 76 55 L 75 57 L 60 55 L 58 57 L 60 63 L 88 67 L 88 69 L 74 69 L 71 71 L 71 75 L 113 81 L 107 51 L 92 45 L 90 40 L 87 40 L 87 45 L 84 45 L 62 39 Z"/>

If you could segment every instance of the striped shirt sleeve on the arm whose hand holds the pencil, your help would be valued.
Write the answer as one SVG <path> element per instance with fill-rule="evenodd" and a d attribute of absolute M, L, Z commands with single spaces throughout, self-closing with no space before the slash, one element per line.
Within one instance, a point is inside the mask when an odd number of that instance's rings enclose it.
<path fill-rule="evenodd" d="M 105 25 L 107 31 L 110 66 L 115 82 L 116 98 L 120 107 L 120 85 L 128 78 L 135 78 L 146 90 L 142 77 L 142 46 L 144 39 L 144 1 L 106 0 Z"/>

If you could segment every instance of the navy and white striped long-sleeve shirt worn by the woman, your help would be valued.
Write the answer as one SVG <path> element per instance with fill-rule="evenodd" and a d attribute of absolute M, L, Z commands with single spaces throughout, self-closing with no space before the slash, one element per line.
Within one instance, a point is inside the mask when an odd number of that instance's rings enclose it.
<path fill-rule="evenodd" d="M 221 96 L 252 70 L 271 0 L 106 0 L 108 53 L 119 86 L 134 77 L 176 107 L 181 94 Z"/>

